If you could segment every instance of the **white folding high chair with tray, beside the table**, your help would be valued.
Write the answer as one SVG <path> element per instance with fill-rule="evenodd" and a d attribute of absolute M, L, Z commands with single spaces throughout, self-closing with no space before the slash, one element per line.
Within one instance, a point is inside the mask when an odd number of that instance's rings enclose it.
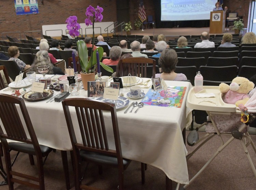
<path fill-rule="evenodd" d="M 248 102 L 245 104 L 245 106 L 248 108 L 248 114 L 249 114 L 249 120 L 246 123 L 241 122 L 240 129 L 234 129 L 231 133 L 222 133 L 222 131 L 219 131 L 218 127 L 216 126 L 216 123 L 213 119 L 213 115 L 226 115 L 227 117 L 230 114 L 242 114 L 243 112 L 240 110 L 237 110 L 236 105 L 234 104 L 226 104 L 222 100 L 222 93 L 219 91 L 218 86 L 203 86 L 203 90 L 201 90 L 198 93 L 213 93 L 215 97 L 211 98 L 196 98 L 194 93 L 194 87 L 190 89 L 188 96 L 187 96 L 187 107 L 191 109 L 198 109 L 198 110 L 204 110 L 207 112 L 213 128 L 215 130 L 214 133 L 207 133 L 203 137 L 199 138 L 199 135 L 197 133 L 198 129 L 204 125 L 207 124 L 207 122 L 200 125 L 198 128 L 196 128 L 194 131 L 191 131 L 190 134 L 187 136 L 187 143 L 189 146 L 197 145 L 201 142 L 201 144 L 198 145 L 197 148 L 193 152 L 191 152 L 186 159 L 188 160 L 193 154 L 202 147 L 207 141 L 209 141 L 214 135 L 218 135 L 219 140 L 221 141 L 221 145 L 217 149 L 217 151 L 214 153 L 214 155 L 205 163 L 205 165 L 198 171 L 198 173 L 189 180 L 189 184 L 182 187 L 182 189 L 186 189 L 191 182 L 193 182 L 200 174 L 201 172 L 213 161 L 213 159 L 224 149 L 226 146 L 231 143 L 234 139 L 240 140 L 241 145 L 244 149 L 244 152 L 247 156 L 247 159 L 250 163 L 250 166 L 253 170 L 253 173 L 256 177 L 256 170 L 255 166 L 252 162 L 252 159 L 249 155 L 249 152 L 247 150 L 247 146 L 250 144 L 252 145 L 255 154 L 256 154 L 256 147 L 247 132 L 247 126 L 255 119 L 256 116 L 256 93 L 253 94 L 253 96 L 248 100 Z M 239 116 L 238 116 L 239 117 Z M 246 131 L 246 132 L 243 132 Z M 222 135 L 230 135 L 230 138 L 227 142 L 223 141 Z M 176 190 L 179 189 L 180 184 L 177 184 Z"/>

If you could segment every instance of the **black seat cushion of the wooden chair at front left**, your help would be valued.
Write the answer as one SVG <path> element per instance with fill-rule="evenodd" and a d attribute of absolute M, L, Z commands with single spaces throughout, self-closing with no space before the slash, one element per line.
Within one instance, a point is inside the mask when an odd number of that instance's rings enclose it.
<path fill-rule="evenodd" d="M 42 151 L 42 156 L 45 157 L 47 156 L 53 149 L 44 146 L 44 145 L 39 145 Z M 35 155 L 35 150 L 32 144 L 27 144 L 27 143 L 9 143 L 9 147 L 11 150 L 15 150 L 18 152 L 24 152 L 29 155 Z"/>

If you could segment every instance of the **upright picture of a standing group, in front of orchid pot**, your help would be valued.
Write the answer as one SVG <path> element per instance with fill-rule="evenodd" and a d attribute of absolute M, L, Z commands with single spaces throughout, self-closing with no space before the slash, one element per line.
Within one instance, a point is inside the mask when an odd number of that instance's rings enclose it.
<path fill-rule="evenodd" d="M 88 97 L 103 97 L 106 82 L 88 81 Z"/>

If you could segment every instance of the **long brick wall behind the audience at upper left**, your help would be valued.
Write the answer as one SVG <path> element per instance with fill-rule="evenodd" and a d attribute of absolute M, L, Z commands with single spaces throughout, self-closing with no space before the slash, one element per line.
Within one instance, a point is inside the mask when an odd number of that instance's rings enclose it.
<path fill-rule="evenodd" d="M 116 21 L 116 0 L 44 0 L 44 5 L 41 0 L 38 0 L 39 14 L 34 15 L 16 15 L 14 1 L 1 0 L 0 33 L 20 31 L 24 38 L 25 31 L 42 30 L 42 25 L 65 24 L 70 15 L 76 15 L 78 23 L 83 23 L 86 18 L 86 8 L 89 5 L 93 7 L 99 5 L 104 9 L 102 21 Z M 40 33 L 38 36 L 37 32 L 31 35 L 40 37 Z M 15 37 L 15 34 L 10 36 Z"/>

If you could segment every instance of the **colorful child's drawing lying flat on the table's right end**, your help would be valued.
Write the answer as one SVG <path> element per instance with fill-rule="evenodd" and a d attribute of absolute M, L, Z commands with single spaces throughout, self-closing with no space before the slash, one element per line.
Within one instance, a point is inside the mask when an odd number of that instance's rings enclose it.
<path fill-rule="evenodd" d="M 144 105 L 180 108 L 186 89 L 187 87 L 182 86 L 169 86 L 166 93 L 164 90 L 150 89 L 141 102 Z"/>

